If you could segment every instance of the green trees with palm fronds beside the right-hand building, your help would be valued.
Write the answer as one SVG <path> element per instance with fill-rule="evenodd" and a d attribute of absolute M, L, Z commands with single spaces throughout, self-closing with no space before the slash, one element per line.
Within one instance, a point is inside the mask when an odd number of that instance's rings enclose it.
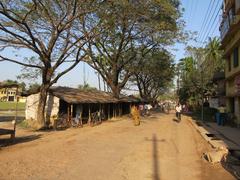
<path fill-rule="evenodd" d="M 209 39 L 204 48 L 187 47 L 188 57 L 177 66 L 180 101 L 194 106 L 202 103 L 202 96 L 214 93 L 214 73 L 224 71 L 223 53 L 217 38 Z"/>

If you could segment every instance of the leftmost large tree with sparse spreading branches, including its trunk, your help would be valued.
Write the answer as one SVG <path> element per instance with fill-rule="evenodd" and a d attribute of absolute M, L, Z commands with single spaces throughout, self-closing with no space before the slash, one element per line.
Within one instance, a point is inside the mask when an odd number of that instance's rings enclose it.
<path fill-rule="evenodd" d="M 82 51 L 89 32 L 80 33 L 81 19 L 88 13 L 85 0 L 2 0 L 0 1 L 0 61 L 35 68 L 41 74 L 37 121 L 45 122 L 49 88 L 73 69 L 85 56 Z M 11 56 L 17 49 L 24 56 L 30 50 L 34 59 Z M 68 62 L 65 64 L 65 62 Z"/>

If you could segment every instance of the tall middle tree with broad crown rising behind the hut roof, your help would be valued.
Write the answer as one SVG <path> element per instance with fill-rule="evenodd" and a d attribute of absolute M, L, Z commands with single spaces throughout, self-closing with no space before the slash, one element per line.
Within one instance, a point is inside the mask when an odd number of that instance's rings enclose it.
<path fill-rule="evenodd" d="M 98 34 L 88 43 L 86 61 L 118 97 L 132 75 L 128 67 L 141 61 L 139 50 L 146 55 L 182 37 L 180 17 L 178 0 L 104 1 L 83 21 L 84 30 L 96 27 Z"/>

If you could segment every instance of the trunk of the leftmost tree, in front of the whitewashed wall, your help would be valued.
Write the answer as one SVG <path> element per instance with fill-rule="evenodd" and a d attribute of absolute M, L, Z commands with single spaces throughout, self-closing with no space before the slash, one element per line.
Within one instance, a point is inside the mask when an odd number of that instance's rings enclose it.
<path fill-rule="evenodd" d="M 38 129 L 46 127 L 45 106 L 47 101 L 48 89 L 49 89 L 48 85 L 42 85 L 40 88 L 39 103 L 37 108 L 37 123 L 38 123 L 37 128 Z"/>

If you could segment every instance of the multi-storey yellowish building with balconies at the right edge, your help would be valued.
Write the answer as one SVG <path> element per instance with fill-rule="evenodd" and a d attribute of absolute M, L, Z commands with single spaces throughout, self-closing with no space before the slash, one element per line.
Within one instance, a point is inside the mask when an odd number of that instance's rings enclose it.
<path fill-rule="evenodd" d="M 227 109 L 240 125 L 240 0 L 224 0 L 219 30 L 226 59 Z"/>

